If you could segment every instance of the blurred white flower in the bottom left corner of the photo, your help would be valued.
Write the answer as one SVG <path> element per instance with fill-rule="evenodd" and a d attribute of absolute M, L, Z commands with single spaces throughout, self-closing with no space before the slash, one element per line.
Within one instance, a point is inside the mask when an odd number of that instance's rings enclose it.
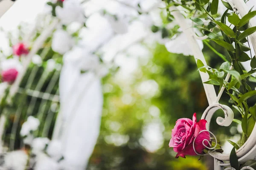
<path fill-rule="evenodd" d="M 28 156 L 23 150 L 12 151 L 4 158 L 4 170 L 25 170 Z"/>

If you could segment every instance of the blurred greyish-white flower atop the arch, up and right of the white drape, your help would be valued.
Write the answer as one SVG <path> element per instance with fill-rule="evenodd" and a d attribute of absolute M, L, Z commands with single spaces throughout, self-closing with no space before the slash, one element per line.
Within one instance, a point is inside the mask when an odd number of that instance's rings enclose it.
<path fill-rule="evenodd" d="M 124 19 L 118 18 L 117 16 L 112 16 L 106 14 L 106 18 L 111 25 L 111 28 L 116 34 L 125 34 L 128 32 L 128 22 Z"/>

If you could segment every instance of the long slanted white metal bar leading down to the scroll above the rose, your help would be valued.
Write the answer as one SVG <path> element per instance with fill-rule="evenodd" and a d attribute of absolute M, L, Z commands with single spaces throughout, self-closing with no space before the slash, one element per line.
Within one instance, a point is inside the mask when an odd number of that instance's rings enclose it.
<path fill-rule="evenodd" d="M 188 21 L 185 19 L 185 17 L 179 12 L 179 10 L 175 6 L 171 6 L 169 8 L 172 15 L 175 17 L 175 20 L 180 25 L 180 28 L 183 30 L 183 32 L 186 34 L 187 41 L 189 43 L 190 49 L 192 50 L 194 54 L 195 60 L 200 59 L 204 65 L 207 65 L 203 52 L 198 46 L 198 43 L 194 37 L 194 33 L 192 30 L 192 27 L 189 26 Z M 204 72 L 200 72 L 202 82 L 206 82 L 209 80 L 209 75 Z M 214 86 L 212 84 L 203 84 L 204 85 L 204 91 L 207 96 L 207 100 L 209 105 L 214 104 L 215 101 L 217 101 L 217 95 L 215 93 Z"/>

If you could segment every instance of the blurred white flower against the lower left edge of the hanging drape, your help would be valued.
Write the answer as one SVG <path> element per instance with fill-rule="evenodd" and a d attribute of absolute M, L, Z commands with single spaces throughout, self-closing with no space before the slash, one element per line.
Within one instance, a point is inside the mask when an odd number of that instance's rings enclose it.
<path fill-rule="evenodd" d="M 61 141 L 52 140 L 47 147 L 47 154 L 55 161 L 58 161 L 62 156 Z"/>

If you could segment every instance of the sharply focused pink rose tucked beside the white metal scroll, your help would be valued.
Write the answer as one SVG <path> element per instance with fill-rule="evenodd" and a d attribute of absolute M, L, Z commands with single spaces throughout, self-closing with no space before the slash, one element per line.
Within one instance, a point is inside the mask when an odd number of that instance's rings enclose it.
<path fill-rule="evenodd" d="M 206 130 L 206 123 L 207 121 L 204 119 L 196 122 L 196 113 L 193 115 L 193 121 L 189 118 L 180 118 L 176 121 L 169 143 L 169 147 L 173 147 L 173 150 L 177 152 L 175 158 L 179 156 L 186 158 L 186 155 L 197 155 L 193 149 L 193 141 L 199 132 Z M 204 139 L 210 141 L 209 132 L 202 132 L 195 139 L 195 150 L 197 153 L 201 154 L 205 149 L 203 145 Z M 206 146 L 209 145 L 207 141 L 204 141 L 204 144 Z"/>

